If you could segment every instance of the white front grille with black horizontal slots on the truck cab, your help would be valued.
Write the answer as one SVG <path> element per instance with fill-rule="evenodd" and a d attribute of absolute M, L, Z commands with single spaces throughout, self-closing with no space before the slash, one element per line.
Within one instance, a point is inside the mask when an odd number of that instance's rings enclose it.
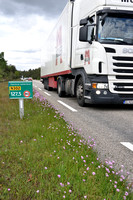
<path fill-rule="evenodd" d="M 113 56 L 109 88 L 112 93 L 133 94 L 133 57 Z"/>

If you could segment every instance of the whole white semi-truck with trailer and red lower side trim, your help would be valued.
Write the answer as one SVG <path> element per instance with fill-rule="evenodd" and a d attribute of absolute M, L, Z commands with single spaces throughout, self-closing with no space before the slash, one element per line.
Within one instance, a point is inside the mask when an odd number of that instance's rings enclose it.
<path fill-rule="evenodd" d="M 69 0 L 41 55 L 41 79 L 78 104 L 133 104 L 133 0 Z"/>

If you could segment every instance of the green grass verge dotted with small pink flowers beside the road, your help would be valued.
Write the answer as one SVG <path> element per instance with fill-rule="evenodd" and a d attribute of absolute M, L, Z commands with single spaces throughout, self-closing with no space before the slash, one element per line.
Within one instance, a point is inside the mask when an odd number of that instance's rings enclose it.
<path fill-rule="evenodd" d="M 100 163 L 93 138 L 81 138 L 39 93 L 24 111 L 21 120 L 18 100 L 0 83 L 1 200 L 133 199 L 113 163 Z"/>

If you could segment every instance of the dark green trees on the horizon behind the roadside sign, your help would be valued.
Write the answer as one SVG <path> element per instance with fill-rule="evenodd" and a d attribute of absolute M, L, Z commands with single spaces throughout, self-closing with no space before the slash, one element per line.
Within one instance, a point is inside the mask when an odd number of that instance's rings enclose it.
<path fill-rule="evenodd" d="M 18 71 L 14 65 L 8 65 L 4 58 L 4 52 L 0 53 L 0 81 L 20 79 L 21 77 L 40 79 L 40 68 L 29 71 Z"/>

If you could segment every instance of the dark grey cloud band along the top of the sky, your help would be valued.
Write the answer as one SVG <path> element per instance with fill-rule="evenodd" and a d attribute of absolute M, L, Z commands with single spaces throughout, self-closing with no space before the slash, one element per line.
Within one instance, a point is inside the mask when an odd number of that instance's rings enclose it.
<path fill-rule="evenodd" d="M 0 0 L 0 12 L 4 15 L 58 16 L 68 0 Z"/>

